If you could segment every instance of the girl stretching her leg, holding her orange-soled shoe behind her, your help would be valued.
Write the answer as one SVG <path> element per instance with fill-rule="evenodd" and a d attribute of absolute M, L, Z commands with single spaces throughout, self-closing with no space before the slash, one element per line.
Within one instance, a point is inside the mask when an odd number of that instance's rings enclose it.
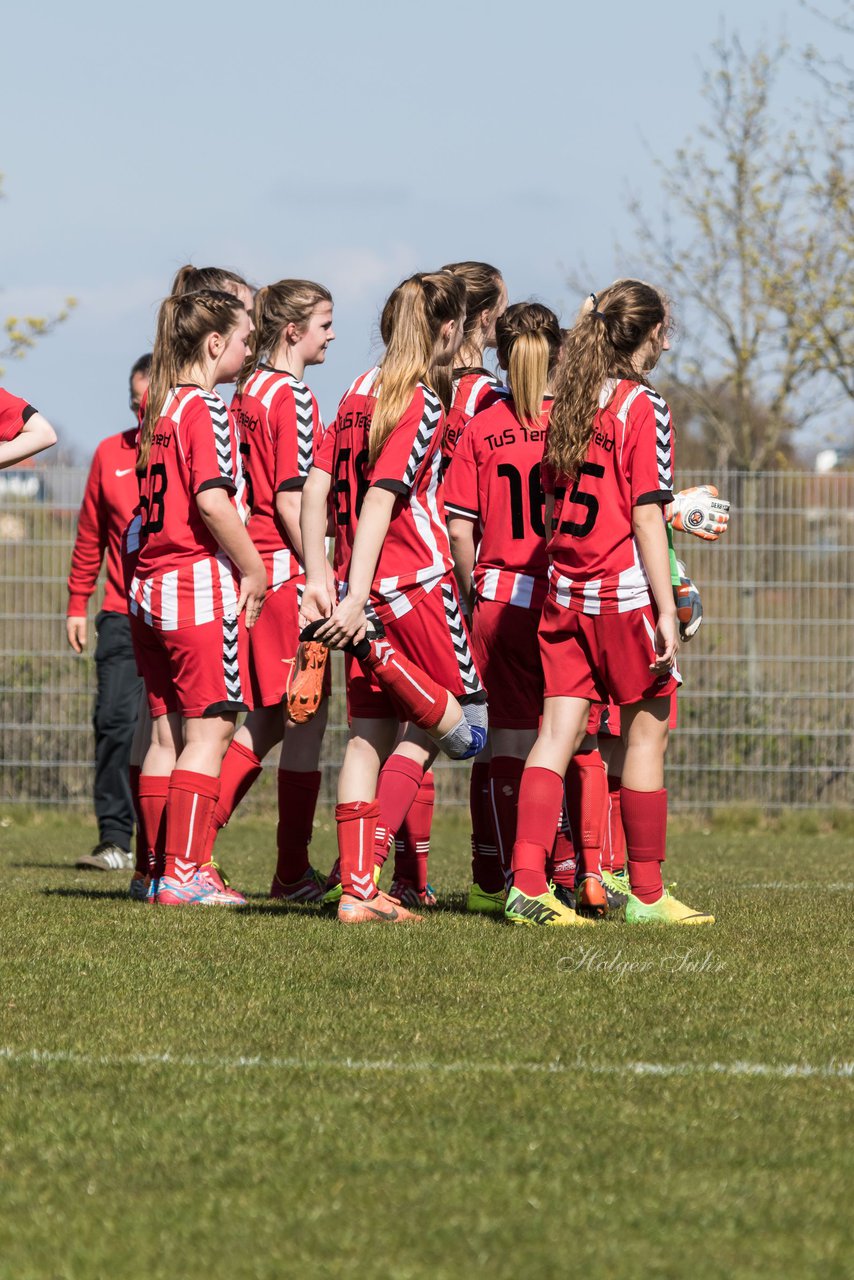
<path fill-rule="evenodd" d="M 335 810 L 346 923 L 417 919 L 378 892 L 375 869 L 437 751 L 462 759 L 485 742 L 485 694 L 451 572 L 434 385 L 462 342 L 463 310 L 463 287 L 448 273 L 398 285 L 383 312 L 385 353 L 344 394 L 303 490 L 303 640 L 347 653 L 350 739 Z M 330 495 L 338 604 L 324 553 Z M 412 893 L 424 901 L 426 884 Z"/>

